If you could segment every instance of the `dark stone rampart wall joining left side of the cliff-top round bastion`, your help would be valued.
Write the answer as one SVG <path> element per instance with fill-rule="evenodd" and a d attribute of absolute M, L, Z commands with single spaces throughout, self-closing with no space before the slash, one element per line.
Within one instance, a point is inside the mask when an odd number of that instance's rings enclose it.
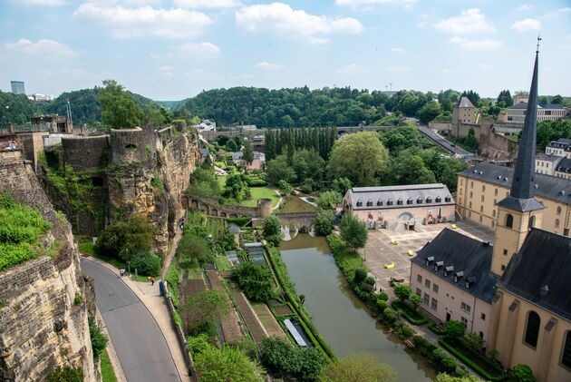
<path fill-rule="evenodd" d="M 108 162 L 109 135 L 62 137 L 63 163 L 76 172 L 102 168 Z"/>

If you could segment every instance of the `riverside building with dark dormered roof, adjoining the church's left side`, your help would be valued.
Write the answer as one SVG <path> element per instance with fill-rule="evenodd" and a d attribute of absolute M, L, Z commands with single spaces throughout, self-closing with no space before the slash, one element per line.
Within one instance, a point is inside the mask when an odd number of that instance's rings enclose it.
<path fill-rule="evenodd" d="M 421 308 L 441 322 L 455 319 L 489 341 L 491 302 L 498 276 L 489 271 L 492 246 L 444 229 L 411 260 L 411 289 Z"/>

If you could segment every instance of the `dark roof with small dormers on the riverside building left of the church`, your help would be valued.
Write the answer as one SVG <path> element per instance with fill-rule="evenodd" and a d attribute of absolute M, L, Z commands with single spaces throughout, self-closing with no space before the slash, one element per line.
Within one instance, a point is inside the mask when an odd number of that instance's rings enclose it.
<path fill-rule="evenodd" d="M 436 238 L 426 243 L 411 261 L 455 287 L 491 302 L 496 294 L 495 285 L 498 282 L 498 276 L 489 270 L 492 251 L 493 246 L 489 242 L 472 239 L 456 230 L 445 228 Z M 435 265 L 440 261 L 442 264 L 436 270 Z M 447 268 L 448 276 L 444 276 Z M 458 275 L 459 272 L 463 272 L 463 275 L 461 273 L 461 276 Z M 458 281 L 454 280 L 455 275 L 458 275 Z M 469 288 L 466 287 L 468 280 L 473 281 L 469 284 Z"/>

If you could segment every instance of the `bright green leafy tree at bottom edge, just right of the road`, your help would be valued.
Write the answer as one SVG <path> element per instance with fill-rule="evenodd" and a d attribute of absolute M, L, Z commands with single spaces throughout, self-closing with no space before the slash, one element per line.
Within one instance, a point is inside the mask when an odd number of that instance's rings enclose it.
<path fill-rule="evenodd" d="M 211 345 L 193 355 L 201 382 L 262 382 L 264 371 L 239 349 Z"/>

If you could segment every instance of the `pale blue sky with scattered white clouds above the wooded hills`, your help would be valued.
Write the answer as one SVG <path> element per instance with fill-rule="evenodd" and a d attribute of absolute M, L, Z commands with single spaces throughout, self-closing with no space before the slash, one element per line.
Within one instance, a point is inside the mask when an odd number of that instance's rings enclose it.
<path fill-rule="evenodd" d="M 571 1 L 0 0 L 0 90 L 112 78 L 156 100 L 350 85 L 571 94 Z"/>

